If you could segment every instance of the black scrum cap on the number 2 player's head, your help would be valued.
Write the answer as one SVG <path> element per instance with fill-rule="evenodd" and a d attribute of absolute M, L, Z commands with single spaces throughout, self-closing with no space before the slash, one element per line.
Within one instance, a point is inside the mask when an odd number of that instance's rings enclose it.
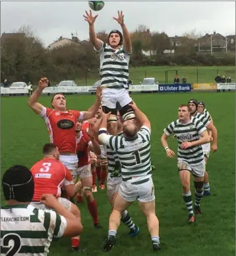
<path fill-rule="evenodd" d="M 24 165 L 14 165 L 3 175 L 3 194 L 5 200 L 31 202 L 34 196 L 34 177 Z"/>

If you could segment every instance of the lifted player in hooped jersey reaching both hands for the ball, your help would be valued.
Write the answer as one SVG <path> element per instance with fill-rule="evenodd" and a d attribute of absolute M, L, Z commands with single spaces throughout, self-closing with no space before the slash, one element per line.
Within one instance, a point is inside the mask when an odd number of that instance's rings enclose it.
<path fill-rule="evenodd" d="M 102 88 L 103 112 L 111 112 L 108 122 L 111 123 L 111 133 L 117 134 L 117 103 L 121 105 L 121 116 L 124 120 L 134 118 L 133 108 L 129 106 L 132 102 L 127 90 L 129 79 L 129 60 L 132 53 L 131 36 L 124 22 L 123 12 L 118 11 L 118 18 L 113 18 L 122 28 L 112 30 L 108 36 L 108 44 L 96 37 L 94 22 L 98 15 L 92 16 L 86 12 L 85 21 L 89 24 L 90 41 L 100 54 L 100 75 Z"/>

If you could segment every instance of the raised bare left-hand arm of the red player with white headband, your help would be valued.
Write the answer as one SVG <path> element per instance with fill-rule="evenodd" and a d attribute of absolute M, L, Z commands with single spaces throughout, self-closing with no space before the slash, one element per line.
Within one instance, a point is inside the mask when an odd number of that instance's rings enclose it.
<path fill-rule="evenodd" d="M 40 103 L 38 103 L 38 99 L 42 93 L 42 91 L 48 86 L 48 79 L 47 77 L 43 77 L 38 82 L 38 88 L 32 95 L 30 96 L 30 99 L 28 100 L 28 106 L 36 112 L 36 114 L 41 114 L 44 106 Z"/>

